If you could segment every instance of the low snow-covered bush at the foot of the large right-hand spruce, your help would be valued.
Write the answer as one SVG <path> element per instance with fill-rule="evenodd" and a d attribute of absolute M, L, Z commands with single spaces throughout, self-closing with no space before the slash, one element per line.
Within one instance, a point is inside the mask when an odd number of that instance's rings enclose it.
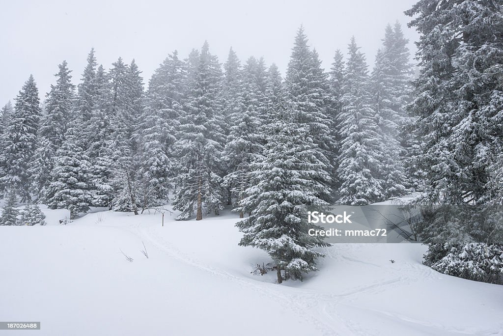
<path fill-rule="evenodd" d="M 468 243 L 452 247 L 432 268 L 463 279 L 503 285 L 503 245 Z"/>

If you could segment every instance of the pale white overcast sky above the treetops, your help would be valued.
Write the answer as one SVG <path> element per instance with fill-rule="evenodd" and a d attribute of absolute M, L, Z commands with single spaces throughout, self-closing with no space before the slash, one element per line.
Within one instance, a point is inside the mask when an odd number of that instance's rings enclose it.
<path fill-rule="evenodd" d="M 284 73 L 301 24 L 325 68 L 352 35 L 372 66 L 387 23 L 398 20 L 413 41 L 403 14 L 415 0 L 1 0 L 0 107 L 13 100 L 30 73 L 41 99 L 64 59 L 77 83 L 91 47 L 106 69 L 121 56 L 135 58 L 144 82 L 177 49 L 185 58 L 208 40 L 223 63 L 229 47 L 241 61 L 254 55 L 275 62 Z M 14 102 L 13 102 L 14 103 Z"/>

